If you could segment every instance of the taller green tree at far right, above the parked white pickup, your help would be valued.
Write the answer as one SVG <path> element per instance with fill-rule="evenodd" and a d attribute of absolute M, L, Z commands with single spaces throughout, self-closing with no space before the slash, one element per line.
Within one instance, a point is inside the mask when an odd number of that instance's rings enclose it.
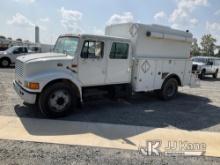
<path fill-rule="evenodd" d="M 201 46 L 204 56 L 214 56 L 216 39 L 211 34 L 202 36 Z"/>

